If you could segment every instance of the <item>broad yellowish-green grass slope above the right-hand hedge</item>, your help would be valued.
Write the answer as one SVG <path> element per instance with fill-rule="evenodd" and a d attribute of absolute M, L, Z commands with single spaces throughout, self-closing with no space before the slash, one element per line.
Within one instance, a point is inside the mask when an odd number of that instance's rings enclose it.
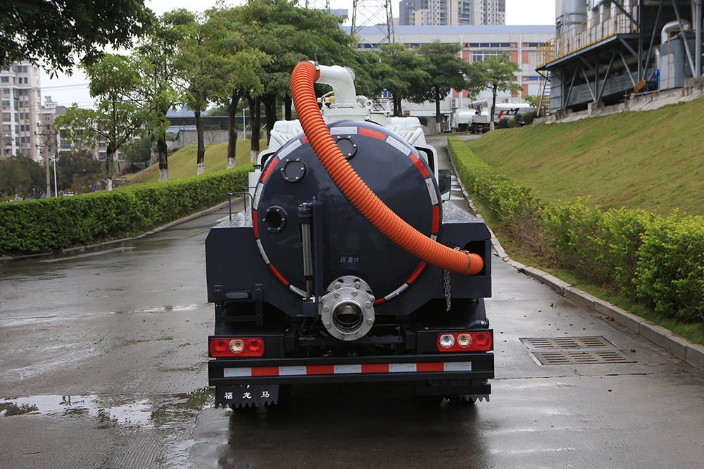
<path fill-rule="evenodd" d="M 502 129 L 467 143 L 543 200 L 704 215 L 704 98 L 651 111 Z"/>

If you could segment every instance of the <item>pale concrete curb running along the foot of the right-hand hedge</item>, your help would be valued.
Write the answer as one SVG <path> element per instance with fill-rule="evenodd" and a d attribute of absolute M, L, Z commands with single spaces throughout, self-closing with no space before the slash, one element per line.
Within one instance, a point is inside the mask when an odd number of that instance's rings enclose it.
<path fill-rule="evenodd" d="M 450 155 L 449 150 L 448 155 Z M 450 157 L 450 164 L 455 172 L 455 179 L 462 190 L 462 195 L 465 197 L 465 200 L 467 200 L 467 205 L 469 205 L 472 212 L 474 212 L 479 219 L 484 221 L 482 216 L 477 213 L 477 208 L 474 207 L 474 203 L 472 203 L 469 193 L 465 190 L 465 185 L 457 177 L 457 167 L 455 167 L 455 162 L 452 157 Z M 491 244 L 494 246 L 494 250 L 496 250 L 496 255 L 510 266 L 513 266 L 517 271 L 534 278 L 536 281 L 539 281 L 544 285 L 547 285 L 555 290 L 555 292 L 559 295 L 562 295 L 568 300 L 572 300 L 572 302 L 578 303 L 587 311 L 594 311 L 608 317 L 612 321 L 619 323 L 621 326 L 624 326 L 632 332 L 641 335 L 641 337 L 650 340 L 650 342 L 658 345 L 658 347 L 667 350 L 667 352 L 677 356 L 677 358 L 681 359 L 685 363 L 704 371 L 704 345 L 690 342 L 689 340 L 673 333 L 669 329 L 659 326 L 658 324 L 648 321 L 647 319 L 643 319 L 641 316 L 637 316 L 636 314 L 633 314 L 625 309 L 617 307 L 615 304 L 611 304 L 608 301 L 604 301 L 593 295 L 589 295 L 589 293 L 586 293 L 579 288 L 574 287 L 551 274 L 548 274 L 547 272 L 543 272 L 532 266 L 524 266 L 520 262 L 516 262 L 508 257 L 505 250 L 503 250 L 501 243 L 499 243 L 498 238 L 494 235 L 494 231 L 491 231 L 489 226 L 486 228 L 489 229 L 489 233 L 491 233 Z"/>

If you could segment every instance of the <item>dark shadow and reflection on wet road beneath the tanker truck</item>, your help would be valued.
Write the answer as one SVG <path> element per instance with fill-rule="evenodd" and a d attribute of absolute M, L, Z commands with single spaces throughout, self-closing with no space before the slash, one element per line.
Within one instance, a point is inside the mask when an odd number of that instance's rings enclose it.
<path fill-rule="evenodd" d="M 394 385 L 300 386 L 287 409 L 234 412 L 218 464 L 266 467 L 489 467 L 482 406 L 420 406 Z"/>

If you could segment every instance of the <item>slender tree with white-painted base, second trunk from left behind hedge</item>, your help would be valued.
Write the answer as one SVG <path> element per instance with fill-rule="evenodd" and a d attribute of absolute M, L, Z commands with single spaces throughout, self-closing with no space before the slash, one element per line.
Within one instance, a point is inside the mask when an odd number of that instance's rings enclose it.
<path fill-rule="evenodd" d="M 184 27 L 193 22 L 193 13 L 183 9 L 164 13 L 155 21 L 151 34 L 144 38 L 137 48 L 137 56 L 145 64 L 142 94 L 152 111 L 151 125 L 146 128 L 146 134 L 156 140 L 159 182 L 169 180 L 166 146 L 169 122 L 166 113 L 177 101 L 175 84 L 178 77 L 178 46 L 184 37 Z"/>

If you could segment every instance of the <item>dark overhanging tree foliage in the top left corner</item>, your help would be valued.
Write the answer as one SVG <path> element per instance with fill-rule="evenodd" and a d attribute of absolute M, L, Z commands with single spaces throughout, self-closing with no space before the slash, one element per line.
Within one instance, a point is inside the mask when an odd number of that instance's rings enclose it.
<path fill-rule="evenodd" d="M 90 63 L 108 44 L 130 47 L 152 16 L 144 0 L 0 0 L 0 68 L 41 60 L 70 73 L 76 56 Z"/>

